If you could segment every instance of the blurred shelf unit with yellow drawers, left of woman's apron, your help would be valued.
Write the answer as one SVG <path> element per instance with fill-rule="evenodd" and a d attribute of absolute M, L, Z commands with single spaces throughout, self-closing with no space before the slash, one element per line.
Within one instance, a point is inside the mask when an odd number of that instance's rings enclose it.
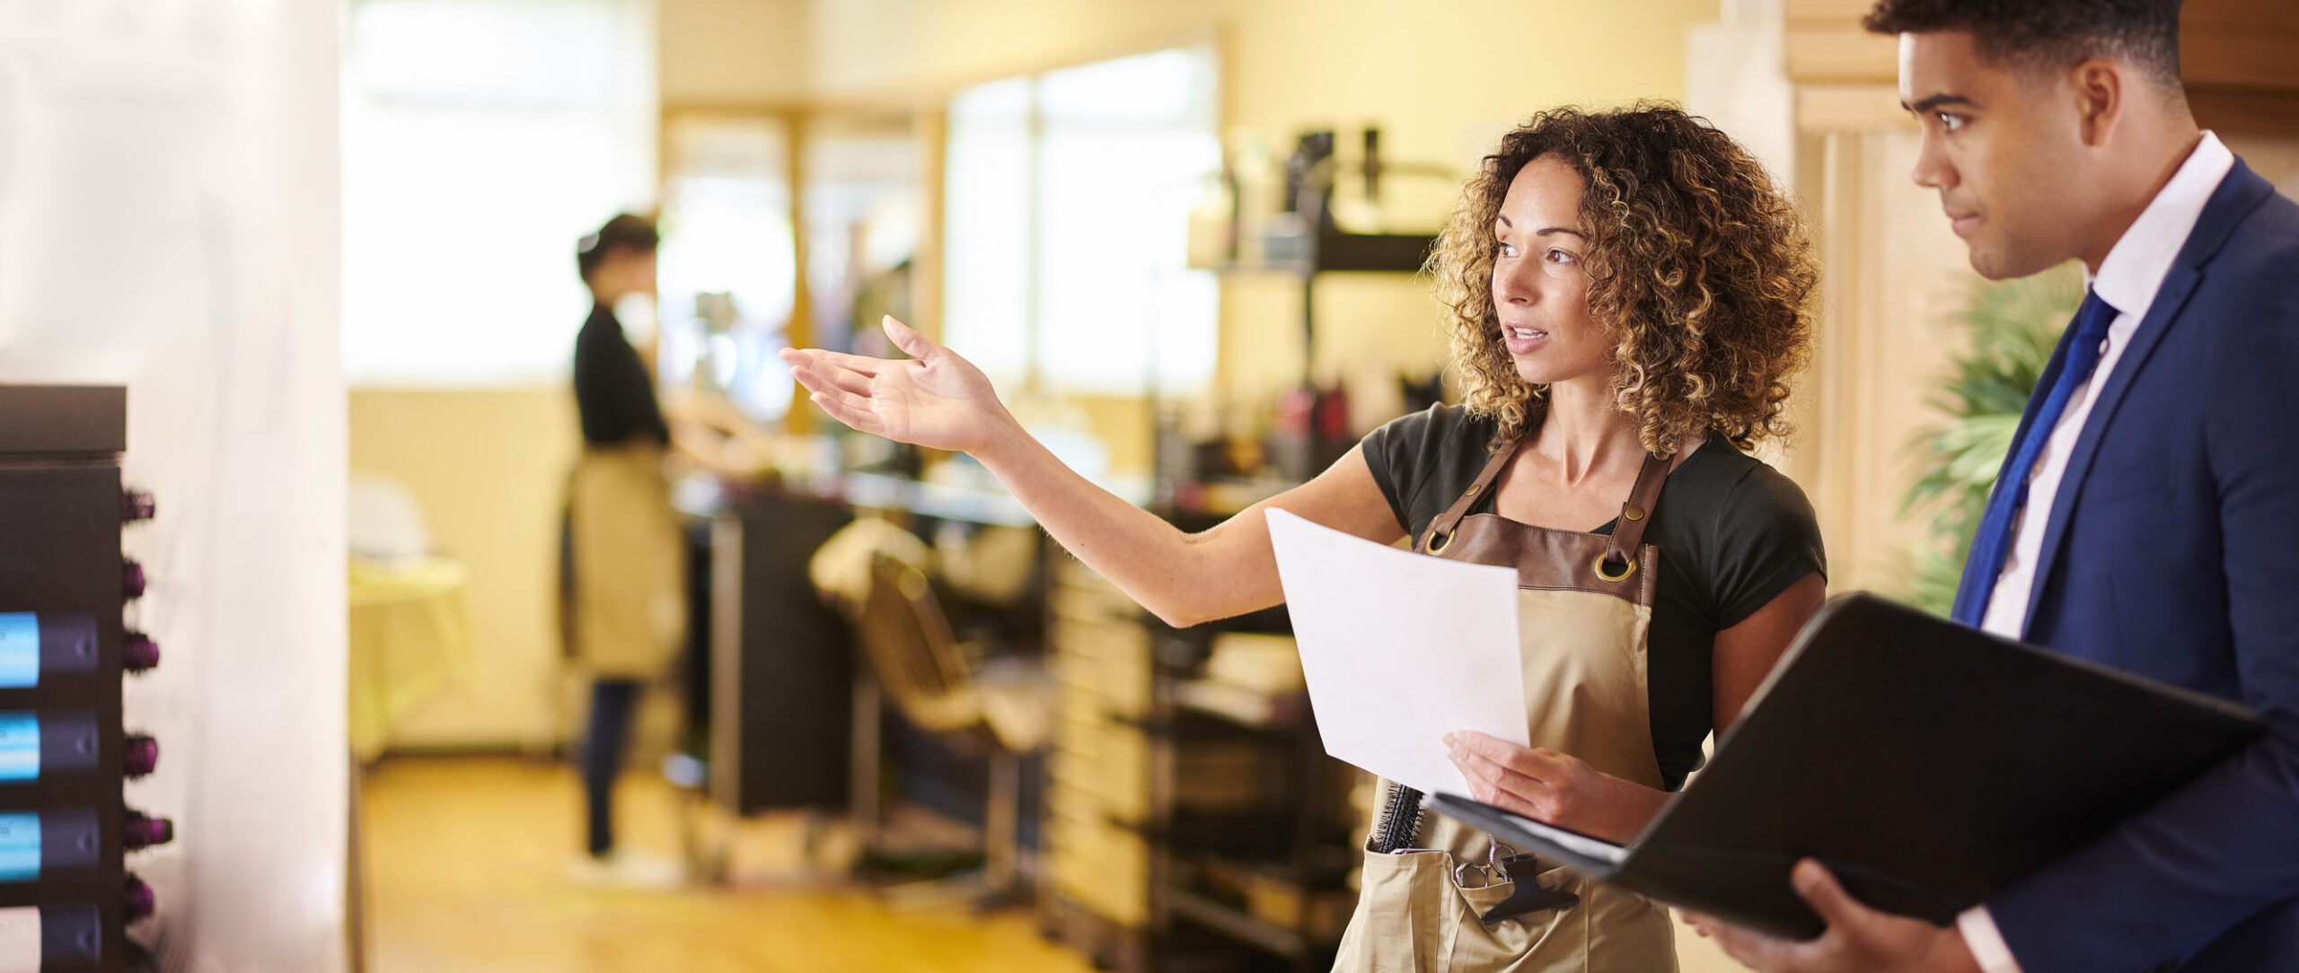
<path fill-rule="evenodd" d="M 1055 564 L 1048 920 L 1106 968 L 1331 966 L 1354 904 L 1347 768 L 1306 699 L 1264 720 L 1177 702 L 1218 633 L 1285 633 L 1283 610 L 1175 630 Z"/>

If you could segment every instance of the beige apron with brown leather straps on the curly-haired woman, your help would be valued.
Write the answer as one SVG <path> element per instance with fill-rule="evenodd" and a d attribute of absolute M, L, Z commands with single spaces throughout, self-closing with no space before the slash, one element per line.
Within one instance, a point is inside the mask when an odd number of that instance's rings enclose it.
<path fill-rule="evenodd" d="M 1517 446 L 1497 451 L 1414 550 L 1517 568 L 1531 743 L 1579 757 L 1614 777 L 1660 787 L 1644 644 L 1660 564 L 1641 538 L 1669 460 L 1646 458 L 1612 536 L 1531 527 L 1492 513 L 1464 518 L 1515 453 Z M 1395 791 L 1398 784 L 1384 780 L 1379 805 L 1389 807 Z M 1375 840 L 1384 817 L 1377 812 Z M 1497 881 L 1462 888 L 1455 883 L 1455 865 L 1487 863 L 1492 840 L 1448 817 L 1421 814 L 1409 846 L 1416 851 L 1382 853 L 1368 846 L 1363 890 L 1340 938 L 1336 971 L 1676 971 L 1669 913 L 1641 895 L 1586 881 L 1543 860 L 1531 881 L 1579 895 L 1579 904 L 1487 927 L 1481 915 L 1508 899 L 1515 886 Z M 1478 881 L 1483 879 L 1471 879 L 1471 886 Z"/>

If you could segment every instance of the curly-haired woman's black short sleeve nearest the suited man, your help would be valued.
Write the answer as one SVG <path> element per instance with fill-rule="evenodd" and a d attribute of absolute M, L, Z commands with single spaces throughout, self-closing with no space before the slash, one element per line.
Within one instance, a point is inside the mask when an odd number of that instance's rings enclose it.
<path fill-rule="evenodd" d="M 1805 575 L 1828 577 L 1821 522 L 1796 481 L 1752 462 L 1717 506 L 1715 580 L 1717 630 L 1747 621 Z"/>

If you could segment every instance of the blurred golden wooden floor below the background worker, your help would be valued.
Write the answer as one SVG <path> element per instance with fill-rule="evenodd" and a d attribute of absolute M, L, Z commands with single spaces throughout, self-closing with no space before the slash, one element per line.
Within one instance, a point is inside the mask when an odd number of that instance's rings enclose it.
<path fill-rule="evenodd" d="M 363 789 L 372 973 L 1090 971 L 1039 938 L 1028 911 L 897 911 L 800 881 L 795 821 L 745 826 L 736 888 L 593 890 L 566 872 L 582 791 L 561 764 L 393 757 Z M 676 851 L 660 777 L 625 775 L 616 810 L 625 842 Z"/>

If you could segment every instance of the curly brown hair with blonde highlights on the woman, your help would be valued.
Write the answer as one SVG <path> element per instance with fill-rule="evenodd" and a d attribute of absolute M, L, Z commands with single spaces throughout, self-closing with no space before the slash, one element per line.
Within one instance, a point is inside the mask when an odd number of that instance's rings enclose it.
<path fill-rule="evenodd" d="M 1681 108 L 1637 104 L 1554 108 L 1501 136 L 1430 253 L 1462 400 L 1499 419 L 1492 449 L 1547 407 L 1547 386 L 1517 375 L 1492 304 L 1492 223 L 1510 179 L 1540 156 L 1586 179 L 1589 317 L 1618 336 L 1612 389 L 1644 423 L 1644 449 L 1667 458 L 1697 432 L 1738 449 L 1784 435 L 1819 285 L 1805 225 L 1738 143 Z"/>

